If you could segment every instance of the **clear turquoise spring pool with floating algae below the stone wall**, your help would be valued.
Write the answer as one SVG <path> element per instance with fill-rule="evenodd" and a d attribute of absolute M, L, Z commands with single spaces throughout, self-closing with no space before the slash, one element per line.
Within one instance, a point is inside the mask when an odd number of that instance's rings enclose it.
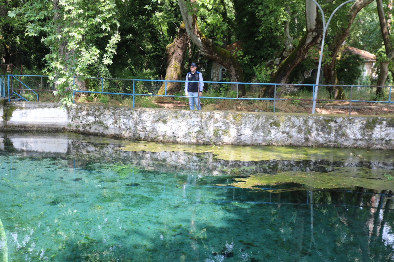
<path fill-rule="evenodd" d="M 394 259 L 392 151 L 0 137 L 0 262 Z"/>

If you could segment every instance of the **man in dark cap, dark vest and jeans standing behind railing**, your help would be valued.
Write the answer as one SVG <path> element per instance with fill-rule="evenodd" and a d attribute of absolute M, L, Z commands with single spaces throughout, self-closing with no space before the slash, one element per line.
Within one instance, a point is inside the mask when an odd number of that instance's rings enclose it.
<path fill-rule="evenodd" d="M 197 110 L 201 110 L 200 105 L 200 96 L 203 94 L 204 83 L 203 82 L 192 82 L 189 83 L 187 81 L 204 81 L 203 74 L 196 71 L 197 64 L 190 64 L 190 72 L 186 74 L 186 85 L 185 85 L 185 94 L 189 97 L 189 107 L 190 110 L 194 110 L 194 105 L 196 105 Z"/>

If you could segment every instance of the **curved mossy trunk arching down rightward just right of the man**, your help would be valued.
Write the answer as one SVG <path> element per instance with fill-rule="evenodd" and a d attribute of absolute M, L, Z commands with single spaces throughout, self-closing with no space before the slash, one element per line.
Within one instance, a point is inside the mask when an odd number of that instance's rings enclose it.
<path fill-rule="evenodd" d="M 178 0 L 180 12 L 186 26 L 186 32 L 188 33 L 190 40 L 200 49 L 201 54 L 206 58 L 212 59 L 217 63 L 223 65 L 230 74 L 231 82 L 244 82 L 243 71 L 240 63 L 229 51 L 220 48 L 214 44 L 212 39 L 205 37 L 198 28 L 197 17 L 193 14 L 193 11 L 189 10 L 188 7 L 192 7 L 194 0 L 190 0 L 191 5 L 187 4 L 185 0 Z M 231 90 L 236 90 L 237 85 L 231 85 Z M 238 85 L 238 91 L 241 95 L 245 94 L 245 86 Z"/>

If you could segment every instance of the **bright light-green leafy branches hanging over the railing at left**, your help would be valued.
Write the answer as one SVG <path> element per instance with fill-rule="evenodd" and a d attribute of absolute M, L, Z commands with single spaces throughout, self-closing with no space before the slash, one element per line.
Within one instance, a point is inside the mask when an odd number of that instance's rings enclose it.
<path fill-rule="evenodd" d="M 73 76 L 86 76 L 88 66 L 101 60 L 112 63 L 119 41 L 116 6 L 112 0 L 86 2 L 82 0 L 28 0 L 22 7 L 12 9 L 8 17 L 28 22 L 25 35 L 45 34 L 41 41 L 49 49 L 45 55 L 44 72 L 56 84 L 55 95 L 63 105 L 72 104 Z M 113 29 L 115 27 L 115 30 Z M 95 46 L 104 38 L 106 47 Z"/>

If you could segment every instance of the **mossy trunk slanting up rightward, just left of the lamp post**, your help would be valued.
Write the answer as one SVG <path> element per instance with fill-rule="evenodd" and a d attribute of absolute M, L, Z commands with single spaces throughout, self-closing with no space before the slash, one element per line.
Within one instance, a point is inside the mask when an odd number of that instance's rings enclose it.
<path fill-rule="evenodd" d="M 269 83 L 286 83 L 292 70 L 308 57 L 310 48 L 318 44 L 323 36 L 322 20 L 318 16 L 318 7 L 311 0 L 305 0 L 305 18 L 307 33 L 299 41 L 297 47 L 279 65 Z M 260 89 L 260 97 L 273 98 L 274 85 L 266 85 Z"/>

